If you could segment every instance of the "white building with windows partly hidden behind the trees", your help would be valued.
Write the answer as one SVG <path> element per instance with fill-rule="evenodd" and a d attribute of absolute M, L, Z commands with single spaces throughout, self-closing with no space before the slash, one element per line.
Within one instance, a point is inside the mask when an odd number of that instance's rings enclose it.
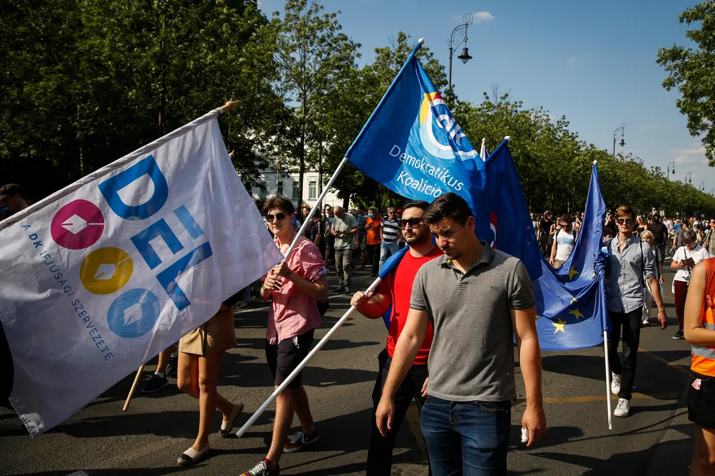
<path fill-rule="evenodd" d="M 265 192 L 260 187 L 253 187 L 251 194 L 254 199 L 265 200 L 275 195 L 283 195 L 292 199 L 296 210 L 300 208 L 298 204 L 298 172 L 275 172 L 273 170 L 262 170 L 257 182 L 265 187 Z M 305 172 L 303 174 L 303 203 L 310 208 L 317 204 L 317 197 L 320 195 L 318 187 L 318 173 Z M 329 190 L 322 202 L 322 208 L 326 205 L 342 207 L 342 199 L 337 197 L 335 189 Z"/>

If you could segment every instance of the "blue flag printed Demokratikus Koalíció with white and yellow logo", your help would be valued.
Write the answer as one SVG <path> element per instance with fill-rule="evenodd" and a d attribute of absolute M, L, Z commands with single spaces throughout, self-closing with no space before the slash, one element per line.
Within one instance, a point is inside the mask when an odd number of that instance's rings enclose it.
<path fill-rule="evenodd" d="M 415 46 L 345 157 L 403 197 L 432 202 L 448 192 L 460 195 L 475 213 L 477 235 L 486 236 L 484 161 L 422 68 L 416 56 L 420 46 Z"/>

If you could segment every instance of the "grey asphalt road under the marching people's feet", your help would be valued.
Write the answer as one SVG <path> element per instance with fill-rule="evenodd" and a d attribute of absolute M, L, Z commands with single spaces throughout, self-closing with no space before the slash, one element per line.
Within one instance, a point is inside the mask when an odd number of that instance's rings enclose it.
<path fill-rule="evenodd" d="M 684 401 L 689 344 L 671 339 L 676 330 L 673 295 L 666 271 L 669 327 L 642 329 L 641 352 L 631 417 L 606 422 L 603 349 L 543 353 L 543 393 L 548 431 L 527 450 L 519 442 L 522 400 L 512 410 L 508 465 L 513 475 L 687 475 L 692 455 L 692 425 Z M 368 286 L 368 272 L 355 273 L 355 289 Z M 335 282 L 331 282 L 332 285 Z M 316 332 L 320 338 L 349 307 L 349 297 L 332 297 Z M 653 310 L 653 317 L 656 312 Z M 253 303 L 235 316 L 238 346 L 227 352 L 220 392 L 245 403 L 245 422 L 272 392 L 265 363 L 267 309 Z M 310 451 L 284 455 L 282 475 L 364 474 L 377 356 L 385 344 L 385 325 L 355 314 L 317 354 L 303 377 L 321 440 Z M 147 365 L 152 374 L 155 362 Z M 519 373 L 518 367 L 516 373 Z M 129 375 L 83 410 L 32 440 L 14 412 L 0 407 L 0 475 L 187 475 L 240 474 L 265 456 L 273 412 L 267 410 L 242 439 L 210 438 L 209 457 L 194 467 L 179 467 L 177 457 L 192 445 L 197 401 L 172 385 L 154 395 L 137 392 L 128 412 L 122 404 L 132 384 Z M 523 382 L 517 375 L 518 399 Z M 613 407 L 615 407 L 613 401 Z M 215 429 L 220 425 L 215 416 Z M 400 430 L 393 475 L 426 475 L 425 452 L 416 412 Z M 296 429 L 297 419 L 294 420 Z"/>

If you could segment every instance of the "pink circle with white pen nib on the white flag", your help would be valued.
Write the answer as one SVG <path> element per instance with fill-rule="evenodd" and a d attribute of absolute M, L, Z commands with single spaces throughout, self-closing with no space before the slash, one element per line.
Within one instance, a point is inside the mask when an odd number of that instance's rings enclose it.
<path fill-rule="evenodd" d="M 68 249 L 84 249 L 97 243 L 104 232 L 104 216 L 97 205 L 74 200 L 59 209 L 51 224 L 52 239 Z"/>

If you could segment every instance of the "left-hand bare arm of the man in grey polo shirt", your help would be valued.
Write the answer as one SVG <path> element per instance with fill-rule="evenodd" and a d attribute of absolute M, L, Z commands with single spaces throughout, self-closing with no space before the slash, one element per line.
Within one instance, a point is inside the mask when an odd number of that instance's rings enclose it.
<path fill-rule="evenodd" d="M 390 372 L 383 386 L 383 396 L 380 398 L 378 410 L 375 412 L 375 420 L 383 436 L 388 434 L 388 429 L 393 427 L 393 415 L 395 415 L 395 393 L 405 375 L 410 371 L 417 352 L 425 342 L 430 318 L 427 311 L 410 309 L 407 322 L 400 334 L 400 339 L 395 346 L 393 362 L 390 364 Z M 387 425 L 385 425 L 387 420 Z"/>

